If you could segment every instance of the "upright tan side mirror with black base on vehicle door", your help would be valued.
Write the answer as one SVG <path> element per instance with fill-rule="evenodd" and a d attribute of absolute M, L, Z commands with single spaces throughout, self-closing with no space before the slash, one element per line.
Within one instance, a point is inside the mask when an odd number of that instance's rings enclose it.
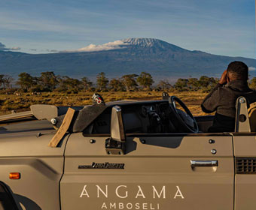
<path fill-rule="evenodd" d="M 125 154 L 126 136 L 123 127 L 123 116 L 120 107 L 112 108 L 111 113 L 111 137 L 106 139 L 105 149 L 107 154 Z"/>

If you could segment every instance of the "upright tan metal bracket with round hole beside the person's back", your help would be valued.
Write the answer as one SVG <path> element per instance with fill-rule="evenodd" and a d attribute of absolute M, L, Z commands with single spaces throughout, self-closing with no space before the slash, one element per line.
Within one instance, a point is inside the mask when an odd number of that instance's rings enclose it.
<path fill-rule="evenodd" d="M 242 96 L 236 100 L 235 132 L 251 132 L 246 99 Z"/>

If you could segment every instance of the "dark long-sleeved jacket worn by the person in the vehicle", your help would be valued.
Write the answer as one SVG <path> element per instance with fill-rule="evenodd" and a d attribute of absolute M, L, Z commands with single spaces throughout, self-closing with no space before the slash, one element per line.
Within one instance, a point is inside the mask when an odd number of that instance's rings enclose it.
<path fill-rule="evenodd" d="M 247 81 L 233 80 L 226 86 L 218 84 L 201 104 L 205 113 L 215 113 L 209 132 L 233 132 L 236 119 L 236 99 L 244 96 L 248 104 L 256 101 L 256 92 L 248 87 Z"/>

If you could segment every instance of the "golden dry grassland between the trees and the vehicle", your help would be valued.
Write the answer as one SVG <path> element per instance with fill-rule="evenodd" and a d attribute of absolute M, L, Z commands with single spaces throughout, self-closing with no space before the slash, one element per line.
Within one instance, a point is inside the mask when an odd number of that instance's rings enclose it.
<path fill-rule="evenodd" d="M 162 92 L 102 92 L 100 93 L 105 102 L 120 100 L 160 100 Z M 80 92 L 78 94 L 64 94 L 58 92 L 31 95 L 24 93 L 17 95 L 0 95 L 0 115 L 29 110 L 32 104 L 53 104 L 56 106 L 84 106 L 92 104 L 93 92 Z M 200 104 L 206 93 L 202 92 L 169 92 L 180 98 L 194 115 L 206 115 L 202 112 Z"/>

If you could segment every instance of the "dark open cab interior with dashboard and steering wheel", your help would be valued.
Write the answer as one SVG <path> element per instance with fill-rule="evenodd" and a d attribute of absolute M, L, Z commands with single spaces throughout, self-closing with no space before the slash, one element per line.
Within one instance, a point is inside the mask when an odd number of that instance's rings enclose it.
<path fill-rule="evenodd" d="M 114 103 L 108 106 L 111 104 Z M 169 101 L 123 101 L 117 105 L 122 109 L 126 133 L 206 133 L 214 118 L 213 115 L 194 117 L 175 96 Z M 84 130 L 84 134 L 110 133 L 110 124 L 111 106 Z"/>

